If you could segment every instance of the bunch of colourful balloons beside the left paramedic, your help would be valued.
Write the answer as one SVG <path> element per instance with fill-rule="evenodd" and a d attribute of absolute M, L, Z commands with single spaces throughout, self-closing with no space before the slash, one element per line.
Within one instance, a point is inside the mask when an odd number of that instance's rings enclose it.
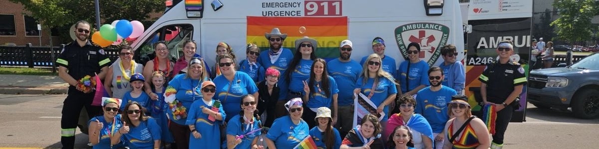
<path fill-rule="evenodd" d="M 100 32 L 92 35 L 92 41 L 102 48 L 109 45 L 119 45 L 123 40 L 132 41 L 144 33 L 144 25 L 140 21 L 115 20 L 104 24 Z"/>

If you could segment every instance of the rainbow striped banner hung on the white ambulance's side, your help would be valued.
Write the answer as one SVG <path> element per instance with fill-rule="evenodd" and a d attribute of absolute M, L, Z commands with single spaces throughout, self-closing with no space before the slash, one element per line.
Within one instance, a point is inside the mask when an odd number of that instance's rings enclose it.
<path fill-rule="evenodd" d="M 247 43 L 267 50 L 270 45 L 264 33 L 279 28 L 288 36 L 284 48 L 295 52 L 295 40 L 308 36 L 316 39 L 316 57 L 339 57 L 339 44 L 347 39 L 347 17 L 247 17 Z"/>

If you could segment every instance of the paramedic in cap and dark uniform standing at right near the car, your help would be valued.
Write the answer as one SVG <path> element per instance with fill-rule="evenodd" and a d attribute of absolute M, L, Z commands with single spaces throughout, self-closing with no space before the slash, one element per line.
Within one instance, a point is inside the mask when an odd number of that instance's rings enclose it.
<path fill-rule="evenodd" d="M 519 104 L 516 98 L 527 83 L 524 69 L 517 62 L 510 60 L 510 55 L 514 52 L 512 42 L 503 41 L 497 47 L 498 62 L 489 64 L 479 76 L 483 103 L 495 105 L 497 112 L 491 148 L 503 147 L 503 136 L 507 124 L 512 119 L 514 105 Z"/>

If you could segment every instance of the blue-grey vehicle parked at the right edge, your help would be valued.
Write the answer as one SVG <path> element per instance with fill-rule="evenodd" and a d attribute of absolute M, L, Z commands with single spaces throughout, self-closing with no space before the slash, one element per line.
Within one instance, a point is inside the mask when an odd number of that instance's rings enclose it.
<path fill-rule="evenodd" d="M 568 67 L 532 70 L 528 77 L 529 103 L 539 108 L 571 107 L 574 116 L 599 116 L 599 53 Z"/>

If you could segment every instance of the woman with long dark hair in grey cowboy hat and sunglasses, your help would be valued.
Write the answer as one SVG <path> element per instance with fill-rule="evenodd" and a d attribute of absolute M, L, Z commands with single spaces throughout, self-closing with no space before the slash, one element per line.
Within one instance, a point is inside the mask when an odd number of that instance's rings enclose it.
<path fill-rule="evenodd" d="M 285 81 L 289 82 L 289 94 L 287 99 L 303 98 L 307 95 L 304 92 L 304 81 L 310 78 L 312 63 L 316 60 L 317 42 L 314 39 L 304 36 L 295 40 L 294 58 L 289 63 L 288 70 L 285 71 Z"/>

